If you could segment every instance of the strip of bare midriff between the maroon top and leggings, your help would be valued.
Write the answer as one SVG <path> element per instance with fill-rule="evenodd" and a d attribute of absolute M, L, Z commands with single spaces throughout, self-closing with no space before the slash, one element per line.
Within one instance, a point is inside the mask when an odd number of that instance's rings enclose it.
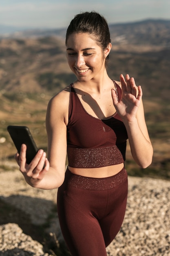
<path fill-rule="evenodd" d="M 124 168 L 124 163 L 115 164 L 111 166 L 103 166 L 97 168 L 74 168 L 68 166 L 68 170 L 76 175 L 81 175 L 84 177 L 93 177 L 93 178 L 105 178 L 111 177 L 119 173 L 122 168 Z"/>

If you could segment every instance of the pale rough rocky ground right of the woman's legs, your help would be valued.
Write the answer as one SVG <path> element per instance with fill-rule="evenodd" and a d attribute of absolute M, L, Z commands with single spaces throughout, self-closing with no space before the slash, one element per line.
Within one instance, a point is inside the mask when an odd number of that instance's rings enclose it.
<path fill-rule="evenodd" d="M 108 256 L 170 256 L 170 181 L 129 177 L 123 225 Z"/>

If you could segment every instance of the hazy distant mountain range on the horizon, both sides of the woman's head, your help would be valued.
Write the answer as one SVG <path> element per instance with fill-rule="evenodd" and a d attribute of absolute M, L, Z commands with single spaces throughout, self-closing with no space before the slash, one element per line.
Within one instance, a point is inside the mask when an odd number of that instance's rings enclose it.
<path fill-rule="evenodd" d="M 170 20 L 142 20 L 139 22 L 110 24 L 112 41 L 132 44 L 170 44 Z M 65 38 L 66 28 L 24 29 L 0 25 L 0 38 L 28 38 L 58 36 Z"/>

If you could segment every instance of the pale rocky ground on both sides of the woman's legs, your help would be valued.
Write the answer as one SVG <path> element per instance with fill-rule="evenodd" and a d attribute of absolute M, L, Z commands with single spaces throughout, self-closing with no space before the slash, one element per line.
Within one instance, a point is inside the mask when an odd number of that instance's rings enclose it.
<path fill-rule="evenodd" d="M 57 190 L 33 189 L 14 163 L 10 169 L 0 171 L 0 256 L 69 255 L 57 219 Z M 170 181 L 128 180 L 126 216 L 108 256 L 170 256 Z"/>

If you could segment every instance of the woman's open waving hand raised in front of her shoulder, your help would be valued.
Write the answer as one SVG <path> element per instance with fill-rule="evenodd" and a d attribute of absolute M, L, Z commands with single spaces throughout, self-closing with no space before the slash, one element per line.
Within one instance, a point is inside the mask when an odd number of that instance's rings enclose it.
<path fill-rule="evenodd" d="M 141 86 L 139 85 L 137 87 L 134 78 L 130 78 L 128 74 L 126 74 L 126 80 L 121 74 L 120 82 L 122 89 L 121 99 L 120 101 L 117 100 L 116 92 L 112 89 L 113 104 L 122 121 L 131 122 L 136 118 L 136 113 L 140 105 L 142 97 Z"/>

